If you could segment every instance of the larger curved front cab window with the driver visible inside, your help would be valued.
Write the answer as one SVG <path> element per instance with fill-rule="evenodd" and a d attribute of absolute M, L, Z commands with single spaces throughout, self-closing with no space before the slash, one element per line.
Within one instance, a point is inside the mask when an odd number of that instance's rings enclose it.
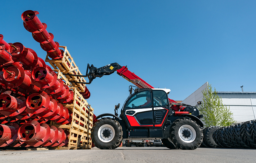
<path fill-rule="evenodd" d="M 141 91 L 127 102 L 125 108 L 150 107 L 151 103 L 150 91 Z"/>

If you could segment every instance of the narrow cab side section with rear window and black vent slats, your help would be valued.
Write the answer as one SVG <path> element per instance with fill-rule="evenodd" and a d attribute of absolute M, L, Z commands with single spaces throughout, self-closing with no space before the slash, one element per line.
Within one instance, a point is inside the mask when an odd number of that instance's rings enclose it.
<path fill-rule="evenodd" d="M 169 112 L 168 96 L 163 90 L 153 90 L 154 127 L 161 127 Z"/>

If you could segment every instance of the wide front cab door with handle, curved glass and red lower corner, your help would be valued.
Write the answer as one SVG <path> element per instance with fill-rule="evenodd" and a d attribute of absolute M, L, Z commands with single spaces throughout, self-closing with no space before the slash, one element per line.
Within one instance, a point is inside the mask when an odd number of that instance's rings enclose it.
<path fill-rule="evenodd" d="M 129 98 L 124 106 L 129 127 L 153 126 L 152 90 L 140 91 Z"/>

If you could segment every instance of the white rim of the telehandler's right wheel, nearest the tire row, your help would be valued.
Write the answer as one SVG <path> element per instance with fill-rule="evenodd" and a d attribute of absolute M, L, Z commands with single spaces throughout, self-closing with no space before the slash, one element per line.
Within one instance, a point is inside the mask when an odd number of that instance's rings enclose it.
<path fill-rule="evenodd" d="M 179 128 L 179 137 L 183 142 L 191 143 L 196 138 L 196 131 L 191 125 L 182 125 Z"/>

